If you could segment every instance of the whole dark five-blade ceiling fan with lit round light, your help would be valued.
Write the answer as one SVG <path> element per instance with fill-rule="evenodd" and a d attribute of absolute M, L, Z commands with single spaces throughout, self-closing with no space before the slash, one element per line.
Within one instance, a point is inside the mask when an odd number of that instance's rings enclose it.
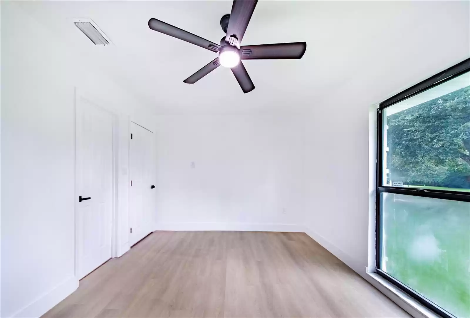
<path fill-rule="evenodd" d="M 241 60 L 300 59 L 307 48 L 306 42 L 240 46 L 257 2 L 234 0 L 231 13 L 220 19 L 220 26 L 226 33 L 226 36 L 220 40 L 220 45 L 155 18 L 149 20 L 149 28 L 219 53 L 218 57 L 184 80 L 185 83 L 194 84 L 222 65 L 232 70 L 243 93 L 248 93 L 255 86 Z"/>

